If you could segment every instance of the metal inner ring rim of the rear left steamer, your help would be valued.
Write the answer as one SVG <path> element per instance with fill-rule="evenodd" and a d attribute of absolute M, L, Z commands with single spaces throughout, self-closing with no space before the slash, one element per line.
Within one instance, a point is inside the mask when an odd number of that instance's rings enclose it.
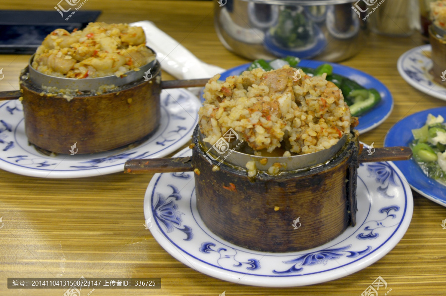
<path fill-rule="evenodd" d="M 152 49 L 151 49 L 152 50 Z M 152 50 L 153 51 L 153 50 Z M 155 52 L 154 52 L 155 53 Z M 156 63 L 156 53 L 155 53 L 155 59 L 147 64 L 145 64 L 142 67 L 139 67 L 138 71 L 128 71 L 124 73 L 121 77 L 116 77 L 115 75 L 110 76 L 104 76 L 104 77 L 97 77 L 97 78 L 63 78 L 63 77 L 56 77 L 56 76 L 50 76 L 44 73 L 41 73 L 34 69 L 31 64 L 34 59 L 34 55 L 31 56 L 29 63 L 28 63 L 28 69 L 29 69 L 29 79 L 38 87 L 42 86 L 50 86 L 50 87 L 57 87 L 58 89 L 73 89 L 73 90 L 97 90 L 102 85 L 115 85 L 115 86 L 122 86 L 129 83 L 132 83 L 138 79 L 141 79 L 146 75 L 146 72 L 152 69 Z M 147 73 L 147 75 L 150 77 L 150 71 Z"/>

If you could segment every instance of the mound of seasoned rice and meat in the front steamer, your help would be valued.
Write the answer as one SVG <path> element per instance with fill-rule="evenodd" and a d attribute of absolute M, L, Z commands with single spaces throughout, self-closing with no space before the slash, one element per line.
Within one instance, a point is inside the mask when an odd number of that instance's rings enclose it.
<path fill-rule="evenodd" d="M 296 71 L 302 76 L 298 81 L 293 80 Z M 351 122 L 357 123 L 340 89 L 325 74 L 310 77 L 283 66 L 244 71 L 224 82 L 219 78 L 206 84 L 199 111 L 204 141 L 211 145 L 233 128 L 254 151 L 281 147 L 285 156 L 306 154 L 335 145 L 350 132 Z"/>

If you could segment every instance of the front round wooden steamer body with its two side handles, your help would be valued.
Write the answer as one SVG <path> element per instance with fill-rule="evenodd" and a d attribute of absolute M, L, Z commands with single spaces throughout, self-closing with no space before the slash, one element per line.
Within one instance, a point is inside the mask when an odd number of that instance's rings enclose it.
<path fill-rule="evenodd" d="M 251 160 L 257 164 L 257 157 L 235 149 L 230 155 L 238 154 L 242 161 L 236 157 L 220 162 L 216 155 L 209 157 L 209 146 L 202 142 L 197 125 L 192 157 L 131 160 L 124 172 L 194 171 L 197 210 L 217 236 L 255 251 L 301 251 L 323 245 L 355 225 L 360 163 L 411 156 L 408 147 L 376 148 L 373 155 L 367 155 L 362 153 L 358 135 L 352 130 L 329 153 L 325 149 L 308 155 L 258 157 L 287 166 L 277 175 L 259 171 L 249 177 L 244 165 Z M 300 227 L 295 229 L 297 218 Z"/>

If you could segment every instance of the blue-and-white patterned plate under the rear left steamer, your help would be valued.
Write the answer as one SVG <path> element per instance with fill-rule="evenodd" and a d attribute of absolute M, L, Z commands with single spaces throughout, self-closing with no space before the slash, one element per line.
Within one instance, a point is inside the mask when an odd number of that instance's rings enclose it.
<path fill-rule="evenodd" d="M 93 154 L 47 156 L 28 144 L 20 101 L 6 101 L 0 105 L 0 169 L 43 178 L 79 178 L 123 171 L 129 159 L 163 157 L 190 141 L 200 106 L 198 98 L 187 90 L 163 90 L 160 127 L 140 145 Z"/>

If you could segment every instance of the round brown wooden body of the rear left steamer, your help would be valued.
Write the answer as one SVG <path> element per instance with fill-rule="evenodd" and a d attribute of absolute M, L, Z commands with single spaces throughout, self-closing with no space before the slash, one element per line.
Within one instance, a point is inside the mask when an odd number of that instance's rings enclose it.
<path fill-rule="evenodd" d="M 138 72 L 128 72 L 124 79 L 77 80 L 41 74 L 31 67 L 31 60 L 22 71 L 20 92 L 26 136 L 37 148 L 67 154 L 77 143 L 79 154 L 102 152 L 144 139 L 159 126 L 161 70 L 156 60 Z M 152 79 L 145 81 L 143 74 L 149 68 Z M 42 85 L 80 93 L 66 99 Z M 117 89 L 91 91 L 100 85 L 116 85 Z"/>

